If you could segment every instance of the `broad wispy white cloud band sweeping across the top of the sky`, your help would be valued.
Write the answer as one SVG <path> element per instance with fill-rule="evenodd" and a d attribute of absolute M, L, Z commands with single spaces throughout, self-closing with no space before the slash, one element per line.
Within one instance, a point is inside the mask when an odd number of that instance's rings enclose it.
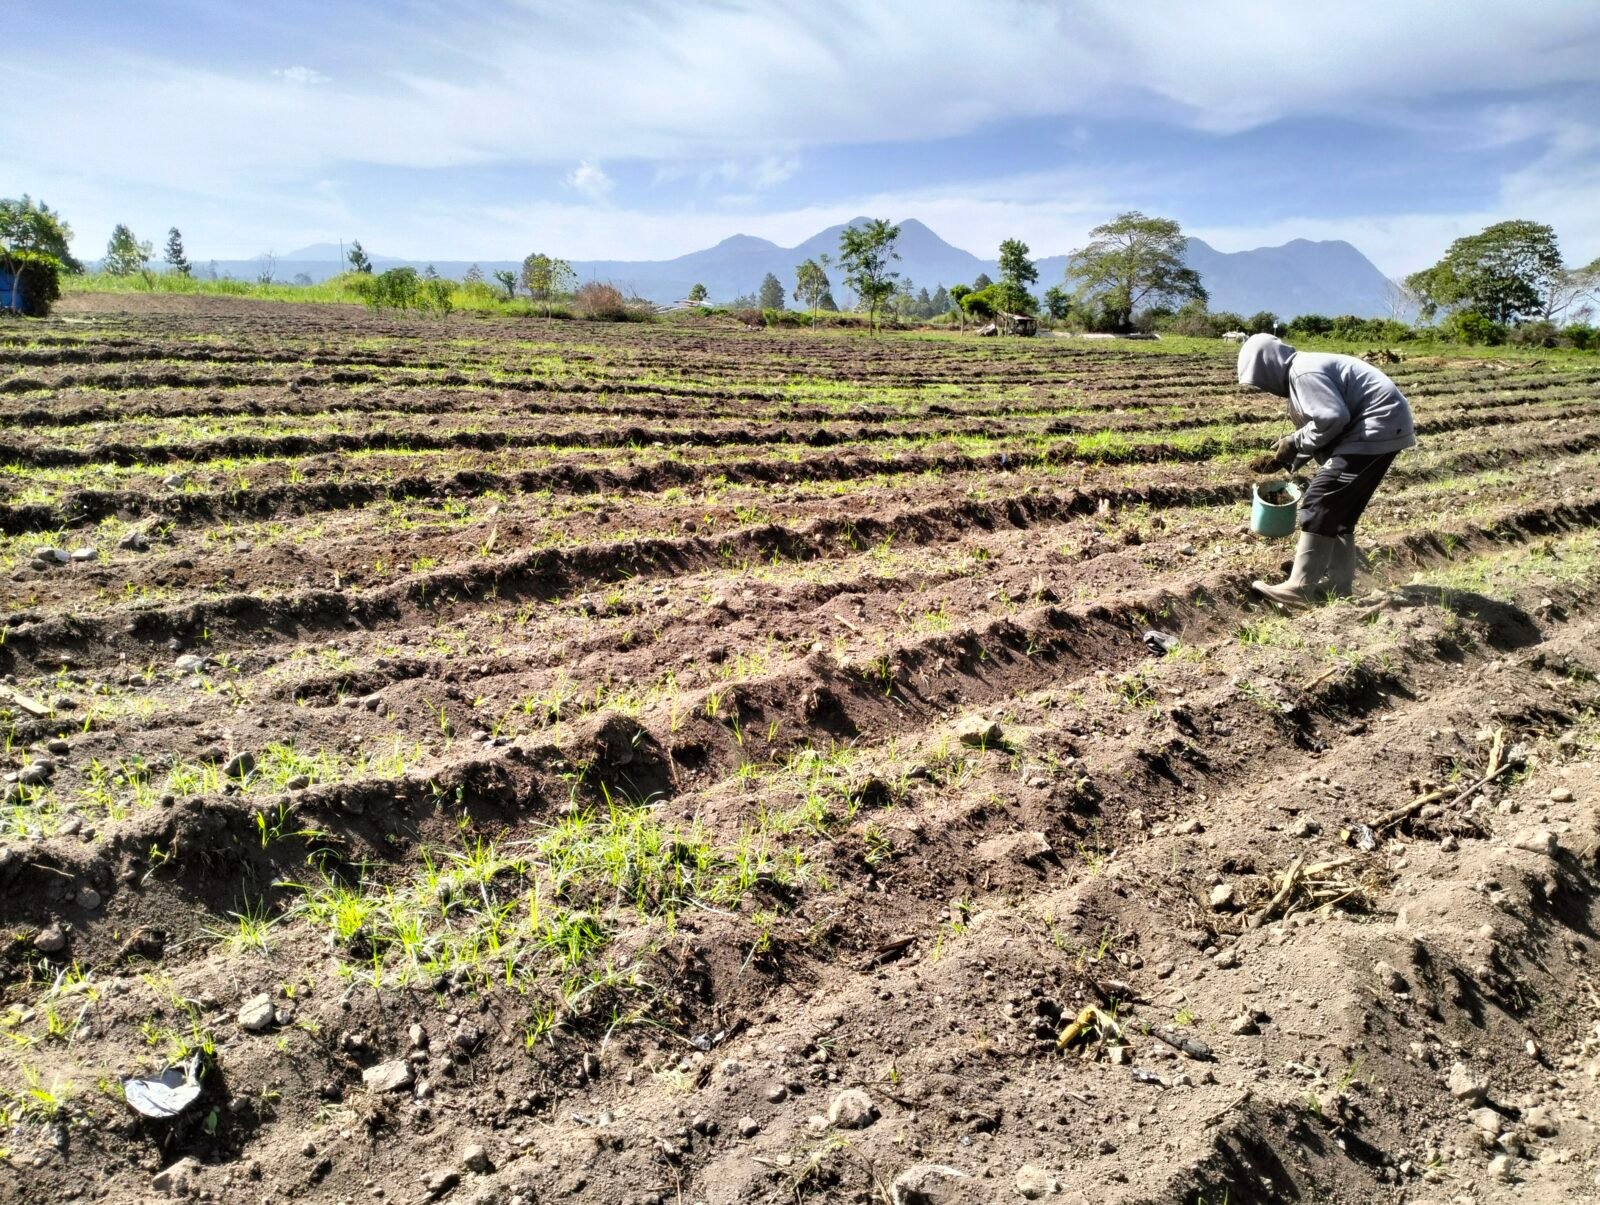
<path fill-rule="evenodd" d="M 773 146 L 946 138 L 1019 117 L 1160 115 L 1206 130 L 1307 112 L 1395 122 L 1440 93 L 1600 80 L 1600 6 L 1576 2 L 1478 0 L 1440 21 L 1378 0 L 1101 0 L 1070 13 L 1035 0 L 525 0 L 467 11 L 448 34 L 475 56 L 470 69 L 437 67 L 440 30 L 402 27 L 387 72 L 298 90 L 91 50 L 13 90 L 0 133 L 40 162 L 86 144 L 134 178 L 150 155 L 130 128 L 157 134 L 157 166 L 760 162 Z M 307 67 L 274 75 L 330 83 Z"/>

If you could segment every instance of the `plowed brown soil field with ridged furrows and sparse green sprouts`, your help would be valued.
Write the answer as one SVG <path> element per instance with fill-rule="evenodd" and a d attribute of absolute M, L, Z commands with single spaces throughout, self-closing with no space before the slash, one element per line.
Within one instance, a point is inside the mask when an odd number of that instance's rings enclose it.
<path fill-rule="evenodd" d="M 1600 1199 L 1600 363 L 1390 371 L 1285 618 L 1229 346 L 0 325 L 0 1200 Z"/>

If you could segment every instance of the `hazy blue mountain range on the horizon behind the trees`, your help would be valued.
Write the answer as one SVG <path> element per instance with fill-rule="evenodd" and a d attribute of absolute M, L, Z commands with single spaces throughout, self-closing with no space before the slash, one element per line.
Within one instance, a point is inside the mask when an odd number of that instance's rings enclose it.
<path fill-rule="evenodd" d="M 848 226 L 866 221 L 854 218 Z M 675 259 L 584 259 L 573 269 L 581 280 L 606 280 L 624 290 L 658 302 L 674 302 L 688 294 L 694 285 L 706 285 L 712 301 L 731 301 L 739 294 L 754 294 L 768 272 L 794 290 L 794 270 L 803 259 L 821 254 L 838 258 L 838 235 L 846 224 L 830 226 L 806 238 L 798 246 L 779 246 L 766 238 L 736 234 L 704 251 L 690 251 Z M 994 259 L 981 259 L 971 251 L 952 246 L 915 218 L 901 222 L 898 243 L 901 254 L 896 267 L 901 277 L 930 293 L 938 285 L 949 288 L 971 283 L 984 272 L 998 277 Z M 418 270 L 429 262 L 446 277 L 459 278 L 469 261 L 456 259 L 397 259 L 368 253 L 379 269 L 410 266 Z M 1384 274 L 1350 243 L 1310 242 L 1294 238 L 1282 246 L 1259 246 L 1253 251 L 1218 251 L 1198 238 L 1189 240 L 1189 266 L 1200 272 L 1211 309 L 1237 310 L 1250 315 L 1258 310 L 1291 318 L 1298 314 L 1355 314 L 1379 317 L 1387 312 L 1387 280 Z M 1037 259 L 1038 288 L 1061 283 L 1067 258 L 1053 254 Z M 483 274 L 496 269 L 518 269 L 514 259 L 480 259 Z M 253 280 L 261 272 L 261 259 L 221 261 L 216 270 Z M 208 264 L 197 264 L 205 270 Z M 275 277 L 293 280 L 304 274 L 310 280 L 325 280 L 342 269 L 338 243 L 315 243 L 278 256 Z M 837 278 L 837 270 L 832 272 Z M 835 288 L 840 302 L 843 290 Z"/>

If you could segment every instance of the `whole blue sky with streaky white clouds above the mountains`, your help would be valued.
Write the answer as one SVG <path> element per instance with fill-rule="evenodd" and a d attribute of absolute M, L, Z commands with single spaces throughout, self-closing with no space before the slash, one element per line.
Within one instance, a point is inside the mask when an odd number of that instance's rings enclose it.
<path fill-rule="evenodd" d="M 1600 254 L 1600 3 L 6 0 L 0 195 L 98 256 L 362 238 L 670 258 L 870 213 L 984 254 L 1120 210 L 1390 274 L 1504 218 Z"/>

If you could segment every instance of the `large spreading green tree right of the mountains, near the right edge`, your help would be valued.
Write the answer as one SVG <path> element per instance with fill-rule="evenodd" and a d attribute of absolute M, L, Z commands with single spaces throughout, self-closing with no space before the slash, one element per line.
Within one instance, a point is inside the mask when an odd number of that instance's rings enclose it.
<path fill-rule="evenodd" d="M 1555 230 L 1541 222 L 1496 222 L 1458 238 L 1445 258 L 1405 278 L 1422 302 L 1422 317 L 1472 310 L 1510 325 L 1544 317 L 1565 267 Z"/>

